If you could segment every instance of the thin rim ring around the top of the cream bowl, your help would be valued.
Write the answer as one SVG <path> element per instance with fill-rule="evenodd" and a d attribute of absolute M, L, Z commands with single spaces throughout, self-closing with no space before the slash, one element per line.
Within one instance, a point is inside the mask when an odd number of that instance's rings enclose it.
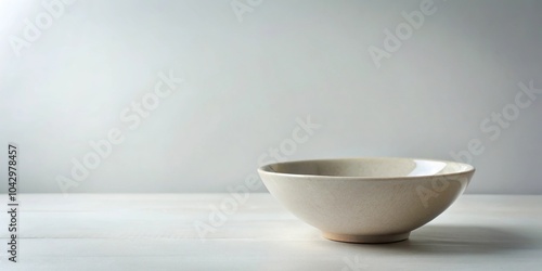
<path fill-rule="evenodd" d="M 391 177 L 364 177 L 364 176 L 325 176 L 325 175 L 297 175 L 297 173 L 284 173 L 266 170 L 266 167 L 271 167 L 274 165 L 284 164 L 295 164 L 295 163 L 311 163 L 311 162 L 337 162 L 337 160 L 367 160 L 367 159 L 402 159 L 402 160 L 425 160 L 425 162 L 439 162 L 439 163 L 454 163 L 466 167 L 465 170 L 461 170 L 452 173 L 441 173 L 441 175 L 424 175 L 424 176 L 391 176 Z M 360 157 L 339 157 L 339 158 L 318 158 L 318 159 L 299 159 L 299 160 L 288 160 L 288 162 L 275 162 L 269 163 L 258 167 L 259 173 L 269 173 L 274 176 L 283 177 L 294 177 L 294 178 L 310 178 L 310 179 L 341 179 L 341 180 L 418 180 L 418 179 L 435 179 L 435 178 L 447 178 L 463 175 L 473 175 L 476 168 L 466 163 L 454 162 L 454 160 L 443 160 L 443 159 L 429 159 L 429 158 L 415 158 L 415 157 L 398 157 L 398 156 L 360 156 Z"/>

